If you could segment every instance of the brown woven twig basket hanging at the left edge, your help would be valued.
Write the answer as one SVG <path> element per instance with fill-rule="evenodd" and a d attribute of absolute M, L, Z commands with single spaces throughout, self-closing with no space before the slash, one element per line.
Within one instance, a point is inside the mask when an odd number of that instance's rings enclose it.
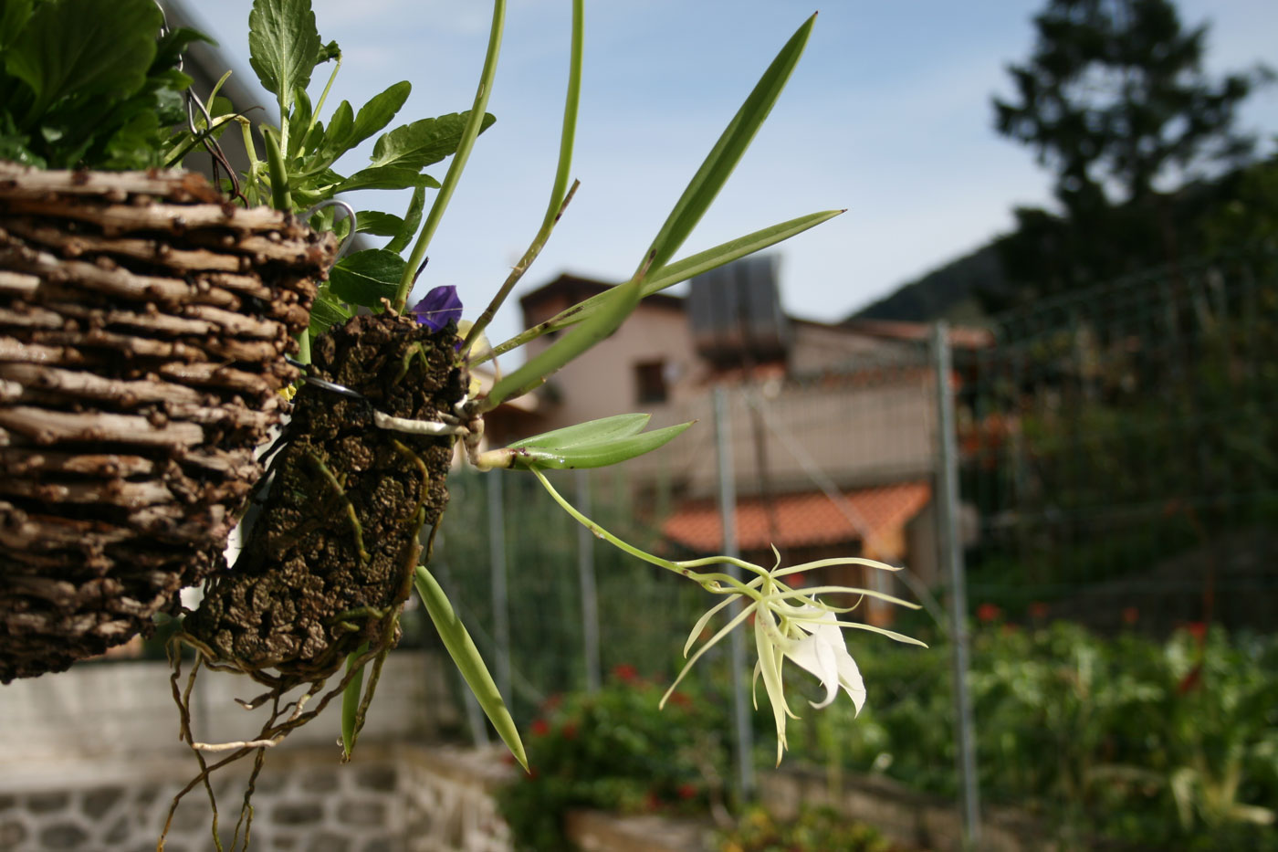
<path fill-rule="evenodd" d="M 0 162 L 0 682 L 221 564 L 335 251 L 196 174 Z"/>

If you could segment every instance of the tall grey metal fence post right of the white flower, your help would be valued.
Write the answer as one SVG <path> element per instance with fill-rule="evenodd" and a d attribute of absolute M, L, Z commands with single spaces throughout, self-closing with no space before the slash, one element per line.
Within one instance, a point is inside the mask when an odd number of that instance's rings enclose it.
<path fill-rule="evenodd" d="M 937 379 L 937 522 L 941 560 L 950 573 L 950 646 L 955 682 L 955 739 L 958 745 L 956 764 L 962 789 L 964 842 L 974 849 L 980 846 L 980 788 L 971 696 L 967 692 L 967 590 L 958 532 L 958 444 L 950 386 L 950 329 L 946 322 L 932 326 L 932 357 Z"/>

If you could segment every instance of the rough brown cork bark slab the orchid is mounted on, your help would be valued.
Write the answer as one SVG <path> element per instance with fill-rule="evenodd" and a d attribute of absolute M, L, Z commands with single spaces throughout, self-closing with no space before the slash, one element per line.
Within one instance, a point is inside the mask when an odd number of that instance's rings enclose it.
<path fill-rule="evenodd" d="M 244 550 L 185 620 L 210 661 L 273 669 L 271 682 L 289 688 L 328 677 L 363 642 L 394 643 L 418 532 L 447 503 L 452 438 L 378 429 L 373 407 L 409 420 L 452 414 L 468 381 L 455 343 L 451 325 L 432 333 L 391 313 L 355 316 L 316 339 L 311 374 L 366 399 L 314 385 L 298 393 Z"/>

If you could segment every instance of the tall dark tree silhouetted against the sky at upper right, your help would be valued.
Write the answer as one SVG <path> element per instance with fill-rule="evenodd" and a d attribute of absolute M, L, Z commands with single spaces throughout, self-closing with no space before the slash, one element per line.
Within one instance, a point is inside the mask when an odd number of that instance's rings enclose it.
<path fill-rule="evenodd" d="M 994 127 L 1057 173 L 1071 214 L 1139 202 L 1168 178 L 1250 156 L 1237 107 L 1272 72 L 1212 79 L 1208 26 L 1186 29 L 1171 0 L 1049 0 L 1034 26 L 1029 61 L 1007 69 L 1015 97 L 993 99 Z"/>

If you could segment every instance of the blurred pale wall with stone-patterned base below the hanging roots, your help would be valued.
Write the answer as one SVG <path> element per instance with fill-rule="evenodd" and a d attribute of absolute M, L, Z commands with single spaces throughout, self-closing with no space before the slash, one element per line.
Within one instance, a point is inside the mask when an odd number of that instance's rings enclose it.
<path fill-rule="evenodd" d="M 253 796 L 256 849 L 323 852 L 506 852 L 509 832 L 489 792 L 510 773 L 498 751 L 429 743 L 456 727 L 446 677 L 428 652 L 386 663 L 354 760 L 339 764 L 337 705 L 267 753 Z M 202 673 L 193 692 L 197 737 L 252 736 L 259 720 L 234 702 L 258 690 Z M 153 849 L 174 793 L 198 771 L 178 741 L 169 668 L 81 664 L 0 687 L 0 849 Z M 247 761 L 215 782 L 229 844 Z M 183 800 L 169 852 L 212 848 L 207 793 Z"/>

